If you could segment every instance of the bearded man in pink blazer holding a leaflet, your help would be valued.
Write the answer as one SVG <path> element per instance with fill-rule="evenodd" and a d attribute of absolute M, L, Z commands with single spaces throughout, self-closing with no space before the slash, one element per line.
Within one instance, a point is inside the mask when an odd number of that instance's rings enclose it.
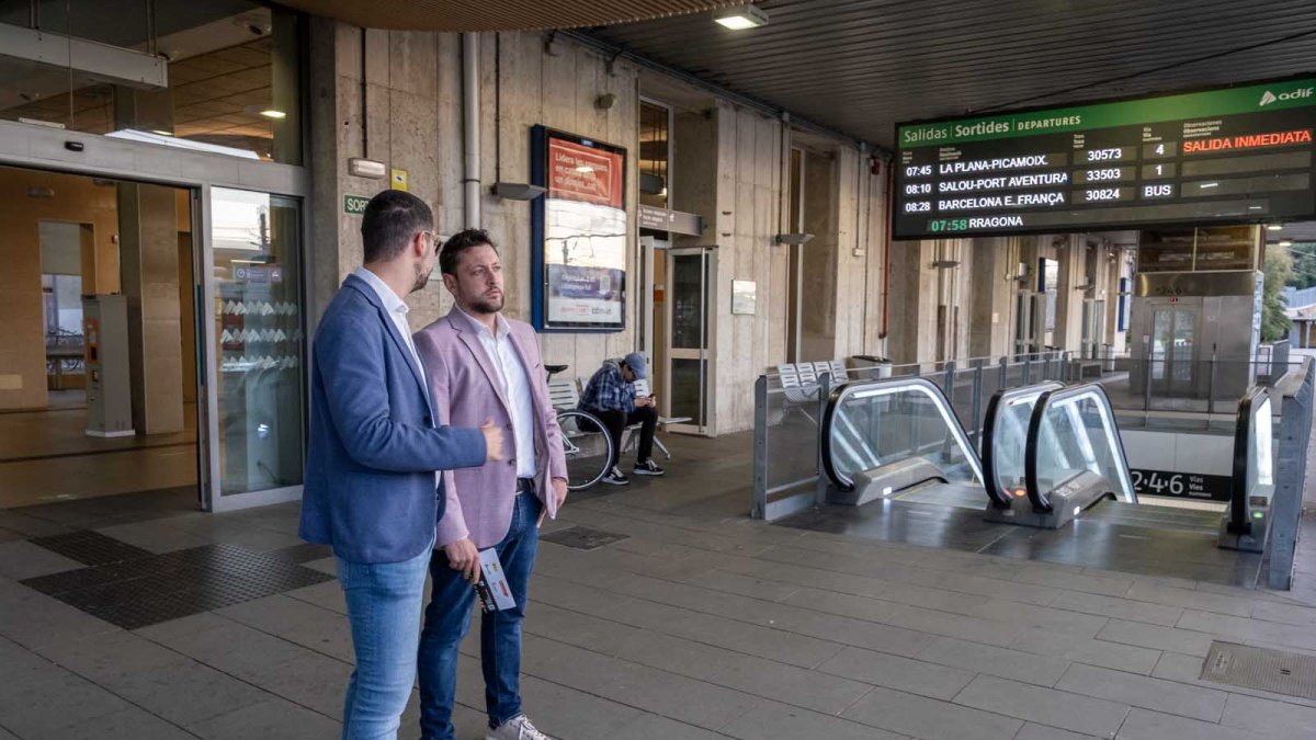
<path fill-rule="evenodd" d="M 453 739 L 457 658 L 470 628 L 479 552 L 497 550 L 513 608 L 483 614 L 480 661 L 488 740 L 546 736 L 521 712 L 521 620 L 538 525 L 567 495 L 566 458 L 534 329 L 504 317 L 503 265 L 488 234 L 461 232 L 438 257 L 453 311 L 416 333 L 438 423 L 503 428 L 503 460 L 445 473 L 447 508 L 429 571 L 433 594 L 420 640 L 421 737 Z M 468 423 L 474 419 L 475 423 Z"/>

